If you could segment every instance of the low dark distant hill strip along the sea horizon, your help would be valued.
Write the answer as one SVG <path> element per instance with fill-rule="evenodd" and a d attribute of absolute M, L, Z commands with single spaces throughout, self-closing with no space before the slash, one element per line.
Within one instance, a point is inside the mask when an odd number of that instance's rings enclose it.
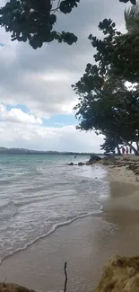
<path fill-rule="evenodd" d="M 92 153 L 78 153 L 78 152 L 58 152 L 58 151 L 39 151 L 23 148 L 5 148 L 0 147 L 0 155 L 92 155 Z M 102 155 L 102 154 L 94 154 Z"/>

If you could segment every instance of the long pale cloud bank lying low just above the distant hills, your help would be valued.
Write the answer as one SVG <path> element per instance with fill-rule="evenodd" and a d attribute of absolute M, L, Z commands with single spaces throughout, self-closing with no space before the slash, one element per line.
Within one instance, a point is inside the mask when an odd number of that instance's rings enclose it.
<path fill-rule="evenodd" d="M 76 131 L 74 126 L 61 128 L 12 123 L 0 124 L 2 146 L 24 147 L 39 150 L 98 152 L 103 143 L 102 136 L 93 132 Z"/>

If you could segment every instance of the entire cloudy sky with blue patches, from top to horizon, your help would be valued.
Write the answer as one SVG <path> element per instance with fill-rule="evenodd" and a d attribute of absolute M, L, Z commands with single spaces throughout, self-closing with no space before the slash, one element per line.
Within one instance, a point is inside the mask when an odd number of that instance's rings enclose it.
<path fill-rule="evenodd" d="M 73 13 L 58 13 L 56 30 L 78 35 L 73 46 L 53 42 L 33 50 L 27 43 L 11 42 L 0 28 L 0 146 L 100 151 L 103 137 L 75 129 L 77 96 L 71 84 L 93 62 L 88 35 L 99 35 L 104 18 L 124 30 L 124 9 L 118 0 L 81 0 Z"/>

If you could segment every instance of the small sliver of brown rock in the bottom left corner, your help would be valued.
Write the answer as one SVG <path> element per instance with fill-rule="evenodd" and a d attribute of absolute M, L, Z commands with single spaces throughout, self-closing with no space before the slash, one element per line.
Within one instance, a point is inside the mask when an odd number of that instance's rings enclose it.
<path fill-rule="evenodd" d="M 0 292 L 35 292 L 16 284 L 0 283 Z"/>

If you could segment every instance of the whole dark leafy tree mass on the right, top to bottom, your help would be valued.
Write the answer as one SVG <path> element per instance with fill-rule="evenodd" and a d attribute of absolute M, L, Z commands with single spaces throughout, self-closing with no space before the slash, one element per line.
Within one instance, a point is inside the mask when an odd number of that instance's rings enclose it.
<path fill-rule="evenodd" d="M 121 64 L 120 56 L 128 56 L 130 59 L 131 49 L 129 46 L 118 47 L 119 59 L 113 58 L 114 46 L 117 40 L 125 37 L 117 31 L 116 23 L 110 19 L 100 22 L 99 29 L 103 32 L 104 38 L 98 40 L 92 35 L 89 36 L 91 45 L 96 49 L 94 55 L 95 65 L 87 64 L 85 73 L 81 79 L 72 87 L 79 95 L 79 102 L 75 106 L 76 118 L 79 119 L 77 128 L 88 131 L 94 129 L 97 133 L 106 136 L 105 148 L 135 141 L 138 143 L 139 132 L 139 85 L 126 86 L 126 71 L 128 63 L 124 60 Z M 130 43 L 131 46 L 131 43 Z M 133 46 L 131 46 L 133 50 Z M 112 53 L 111 53 L 112 52 Z M 118 67 L 118 66 L 119 67 Z M 123 65 L 123 66 L 122 66 Z M 131 66 L 131 64 L 130 64 Z M 117 73 L 118 70 L 120 70 Z M 132 64 L 132 82 L 137 80 L 138 68 Z M 127 72 L 127 74 L 126 74 Z M 135 154 L 137 150 L 130 145 Z"/>

